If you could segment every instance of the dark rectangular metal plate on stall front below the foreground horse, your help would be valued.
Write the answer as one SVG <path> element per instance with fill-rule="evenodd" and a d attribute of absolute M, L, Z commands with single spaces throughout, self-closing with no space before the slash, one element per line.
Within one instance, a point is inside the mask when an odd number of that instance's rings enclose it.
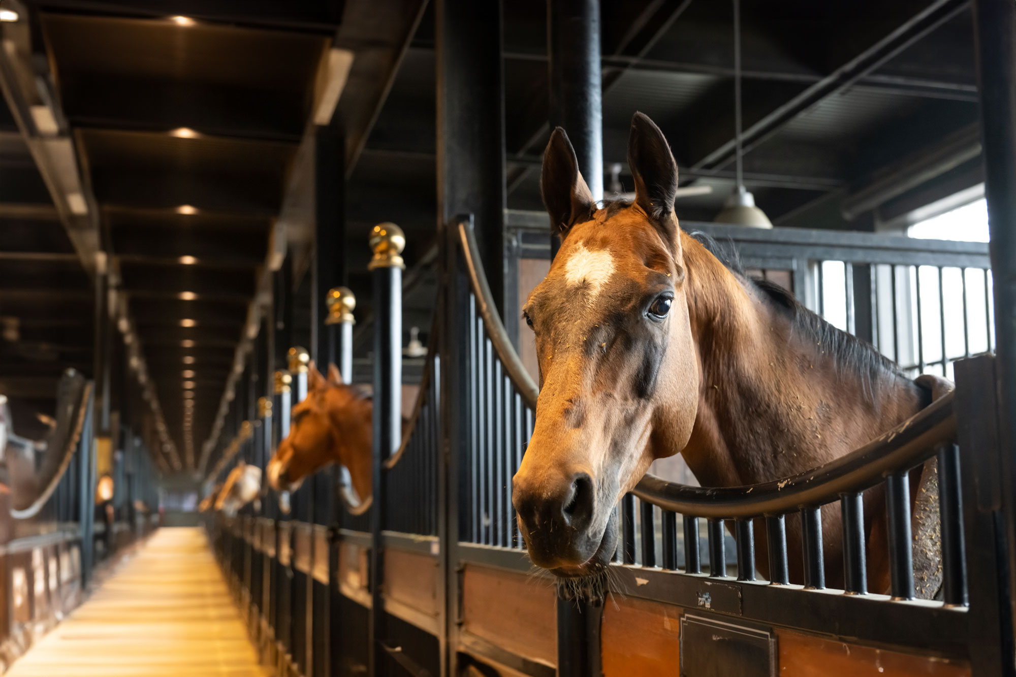
<path fill-rule="evenodd" d="M 770 630 L 692 614 L 681 618 L 682 677 L 775 677 L 777 657 Z"/>

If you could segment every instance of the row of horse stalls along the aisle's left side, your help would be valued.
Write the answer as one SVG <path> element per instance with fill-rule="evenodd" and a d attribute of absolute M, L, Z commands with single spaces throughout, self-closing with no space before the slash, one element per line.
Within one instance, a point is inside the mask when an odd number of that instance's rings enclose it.
<path fill-rule="evenodd" d="M 154 506 L 158 498 L 148 452 L 127 429 L 116 458 L 108 458 L 115 465 L 117 493 L 98 492 L 102 451 L 92 434 L 93 390 L 92 381 L 65 372 L 41 439 L 18 434 L 24 421 L 11 416 L 0 394 L 3 670 L 77 608 L 119 554 L 157 526 L 132 515 L 135 501 Z M 24 413 L 18 399 L 12 404 Z"/>

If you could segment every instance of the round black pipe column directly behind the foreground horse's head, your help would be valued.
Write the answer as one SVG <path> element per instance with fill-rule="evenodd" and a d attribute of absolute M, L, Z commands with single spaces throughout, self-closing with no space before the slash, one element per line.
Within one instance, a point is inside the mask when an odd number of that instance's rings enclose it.
<path fill-rule="evenodd" d="M 604 197 L 604 113 L 599 45 L 599 0 L 549 0 L 547 56 L 551 86 L 551 129 L 563 127 L 578 168 L 592 191 Z M 560 242 L 551 236 L 551 256 Z M 599 625 L 602 591 L 566 599 L 558 589 L 558 674 L 600 674 Z"/>

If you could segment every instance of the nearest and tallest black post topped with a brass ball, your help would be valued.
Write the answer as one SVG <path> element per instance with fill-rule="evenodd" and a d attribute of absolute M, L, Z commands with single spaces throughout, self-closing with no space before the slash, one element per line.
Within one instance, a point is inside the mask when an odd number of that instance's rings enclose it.
<path fill-rule="evenodd" d="M 374 258 L 374 448 L 371 493 L 371 627 L 370 674 L 388 674 L 385 649 L 384 549 L 381 531 L 385 526 L 384 464 L 401 442 L 402 376 L 402 248 L 405 237 L 394 224 L 379 224 L 371 233 Z"/>

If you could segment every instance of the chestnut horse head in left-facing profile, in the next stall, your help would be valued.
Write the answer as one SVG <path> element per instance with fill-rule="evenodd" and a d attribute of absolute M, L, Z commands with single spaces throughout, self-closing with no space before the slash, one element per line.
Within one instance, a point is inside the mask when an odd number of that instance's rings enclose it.
<path fill-rule="evenodd" d="M 276 491 L 294 491 L 309 475 L 329 464 L 350 471 L 361 501 L 371 496 L 370 398 L 342 383 L 335 365 L 328 378 L 311 365 L 307 397 L 293 408 L 290 434 L 268 461 L 268 483 Z"/>

